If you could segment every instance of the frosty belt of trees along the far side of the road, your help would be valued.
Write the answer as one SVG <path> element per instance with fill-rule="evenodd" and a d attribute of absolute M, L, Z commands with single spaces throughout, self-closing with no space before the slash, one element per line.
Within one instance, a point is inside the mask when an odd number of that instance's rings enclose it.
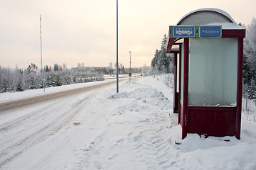
<path fill-rule="evenodd" d="M 120 64 L 119 73 L 127 72 L 122 64 Z M 53 70 L 51 66 L 44 66 L 43 72 L 38 69 L 36 64 L 29 64 L 24 70 L 6 69 L 0 66 L 0 93 L 25 91 L 28 89 L 42 89 L 43 86 L 61 86 L 66 84 L 75 84 L 79 82 L 101 81 L 102 74 L 113 74 L 112 63 L 110 67 L 82 67 L 68 69 L 65 64 L 63 67 L 54 64 Z"/>

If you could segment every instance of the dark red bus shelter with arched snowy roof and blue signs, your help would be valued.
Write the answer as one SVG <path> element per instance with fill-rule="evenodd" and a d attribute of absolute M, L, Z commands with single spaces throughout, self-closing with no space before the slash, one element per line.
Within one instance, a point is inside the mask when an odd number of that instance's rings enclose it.
<path fill-rule="evenodd" d="M 169 27 L 174 53 L 174 113 L 187 133 L 240 139 L 245 28 L 217 8 L 202 8 Z"/>

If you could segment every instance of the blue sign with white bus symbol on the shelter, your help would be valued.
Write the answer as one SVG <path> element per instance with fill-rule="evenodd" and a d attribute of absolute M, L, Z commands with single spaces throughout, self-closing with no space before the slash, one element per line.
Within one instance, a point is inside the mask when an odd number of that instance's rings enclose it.
<path fill-rule="evenodd" d="M 194 38 L 195 26 L 174 26 L 174 38 Z"/>

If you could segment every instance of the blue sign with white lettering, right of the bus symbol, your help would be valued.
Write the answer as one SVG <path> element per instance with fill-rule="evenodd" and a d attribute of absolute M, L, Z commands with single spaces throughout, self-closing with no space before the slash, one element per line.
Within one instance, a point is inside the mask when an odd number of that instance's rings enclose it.
<path fill-rule="evenodd" d="M 221 26 L 200 26 L 199 37 L 221 38 Z"/>

